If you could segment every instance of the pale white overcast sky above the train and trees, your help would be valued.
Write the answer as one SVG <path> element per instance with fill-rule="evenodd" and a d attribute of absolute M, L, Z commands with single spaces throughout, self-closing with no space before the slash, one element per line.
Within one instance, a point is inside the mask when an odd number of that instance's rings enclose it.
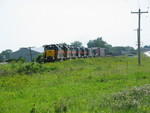
<path fill-rule="evenodd" d="M 138 15 L 150 0 L 0 0 L 0 52 L 102 37 L 137 48 Z M 141 15 L 141 46 L 150 45 L 150 13 Z"/>

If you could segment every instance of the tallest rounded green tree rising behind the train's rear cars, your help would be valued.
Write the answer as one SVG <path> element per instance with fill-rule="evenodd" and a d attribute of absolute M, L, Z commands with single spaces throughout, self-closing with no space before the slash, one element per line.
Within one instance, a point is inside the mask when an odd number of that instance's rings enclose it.
<path fill-rule="evenodd" d="M 107 44 L 106 41 L 104 41 L 102 39 L 102 37 L 98 37 L 97 39 L 95 40 L 90 40 L 88 43 L 87 43 L 87 46 L 90 48 L 90 47 L 101 47 L 101 48 L 111 48 L 112 46 L 110 44 Z"/>

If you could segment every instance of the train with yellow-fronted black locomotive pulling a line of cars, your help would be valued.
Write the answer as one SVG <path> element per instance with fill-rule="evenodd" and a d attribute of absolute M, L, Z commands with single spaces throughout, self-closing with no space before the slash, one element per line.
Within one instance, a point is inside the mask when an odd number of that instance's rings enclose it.
<path fill-rule="evenodd" d="M 44 45 L 44 62 L 62 61 L 77 58 L 92 58 L 106 56 L 106 48 L 74 47 L 61 44 Z"/>

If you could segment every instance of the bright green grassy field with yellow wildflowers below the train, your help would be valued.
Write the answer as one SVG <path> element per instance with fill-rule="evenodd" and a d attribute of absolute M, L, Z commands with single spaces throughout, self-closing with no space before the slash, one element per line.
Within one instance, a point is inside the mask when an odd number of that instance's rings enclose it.
<path fill-rule="evenodd" d="M 150 58 L 0 65 L 0 113 L 150 113 Z"/>

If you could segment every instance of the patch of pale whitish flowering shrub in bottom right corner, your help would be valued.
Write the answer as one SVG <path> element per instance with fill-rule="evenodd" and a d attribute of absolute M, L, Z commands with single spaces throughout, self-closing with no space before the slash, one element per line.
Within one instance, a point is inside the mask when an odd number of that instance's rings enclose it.
<path fill-rule="evenodd" d="M 124 90 L 123 92 L 113 94 L 111 97 L 105 97 L 106 103 L 105 105 L 101 104 L 101 106 L 110 106 L 112 111 L 126 112 L 131 109 L 136 111 L 142 107 L 148 108 L 148 103 L 146 104 L 145 102 L 149 101 L 150 85 L 147 84 L 130 90 Z"/>

